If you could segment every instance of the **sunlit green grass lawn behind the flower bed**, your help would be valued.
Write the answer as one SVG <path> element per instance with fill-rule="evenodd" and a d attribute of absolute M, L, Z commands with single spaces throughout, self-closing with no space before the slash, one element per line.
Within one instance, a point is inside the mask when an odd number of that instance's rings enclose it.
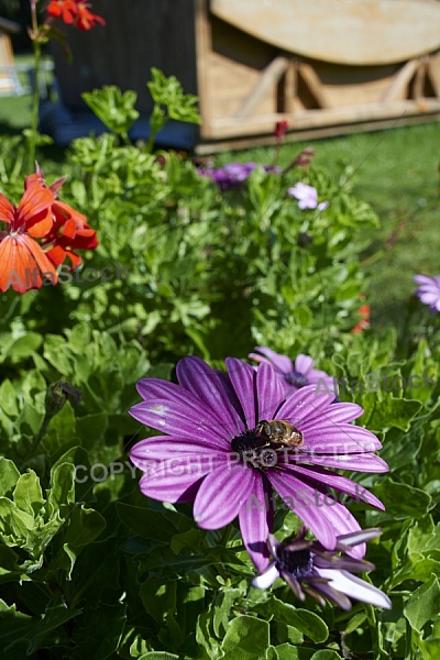
<path fill-rule="evenodd" d="M 28 127 L 30 106 L 29 95 L 2 97 L 0 134 Z M 317 165 L 334 173 L 341 161 L 354 166 L 353 191 L 373 206 L 382 223 L 380 230 L 369 231 L 371 246 L 364 255 L 364 265 L 372 274 L 366 295 L 373 328 L 398 324 L 415 290 L 414 274 L 440 273 L 440 122 L 285 144 L 279 151 L 279 165 L 286 166 L 306 146 L 316 151 Z M 59 155 L 55 158 L 58 163 Z M 219 154 L 216 164 L 271 164 L 274 156 L 274 147 L 256 147 Z"/>

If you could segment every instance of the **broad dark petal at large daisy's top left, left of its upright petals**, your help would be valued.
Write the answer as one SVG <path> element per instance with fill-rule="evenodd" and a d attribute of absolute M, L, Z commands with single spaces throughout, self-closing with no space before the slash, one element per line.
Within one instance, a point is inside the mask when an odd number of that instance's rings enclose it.
<path fill-rule="evenodd" d="M 223 429 L 232 438 L 244 430 L 242 416 L 232 406 L 224 389 L 224 380 L 218 371 L 210 369 L 200 358 L 191 355 L 179 360 L 176 373 L 180 385 L 215 411 Z"/>

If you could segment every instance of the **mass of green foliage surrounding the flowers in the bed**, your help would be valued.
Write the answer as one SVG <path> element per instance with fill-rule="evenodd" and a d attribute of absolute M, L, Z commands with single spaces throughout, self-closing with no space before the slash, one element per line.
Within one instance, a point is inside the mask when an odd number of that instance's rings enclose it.
<path fill-rule="evenodd" d="M 168 117 L 197 123 L 195 97 L 152 73 L 153 132 Z M 87 216 L 99 248 L 56 287 L 0 296 L 2 657 L 437 659 L 438 328 L 431 316 L 410 317 L 404 340 L 350 332 L 370 283 L 365 230 L 378 226 L 346 184 L 351 169 L 261 167 L 220 191 L 188 158 L 120 143 L 132 94 L 87 99 L 117 135 L 75 141 L 53 178 L 68 176 L 63 201 Z M 18 202 L 20 167 L 3 142 L 0 180 Z M 328 208 L 300 210 L 286 195 L 297 182 Z M 129 450 L 153 431 L 127 414 L 135 383 L 172 380 L 186 354 L 220 366 L 254 344 L 312 355 L 380 436 L 391 472 L 350 476 L 386 509 L 350 508 L 383 529 L 365 580 L 393 610 L 323 609 L 282 581 L 252 588 L 237 521 L 207 532 L 190 505 L 140 494 Z M 276 512 L 280 538 L 297 526 Z"/>

